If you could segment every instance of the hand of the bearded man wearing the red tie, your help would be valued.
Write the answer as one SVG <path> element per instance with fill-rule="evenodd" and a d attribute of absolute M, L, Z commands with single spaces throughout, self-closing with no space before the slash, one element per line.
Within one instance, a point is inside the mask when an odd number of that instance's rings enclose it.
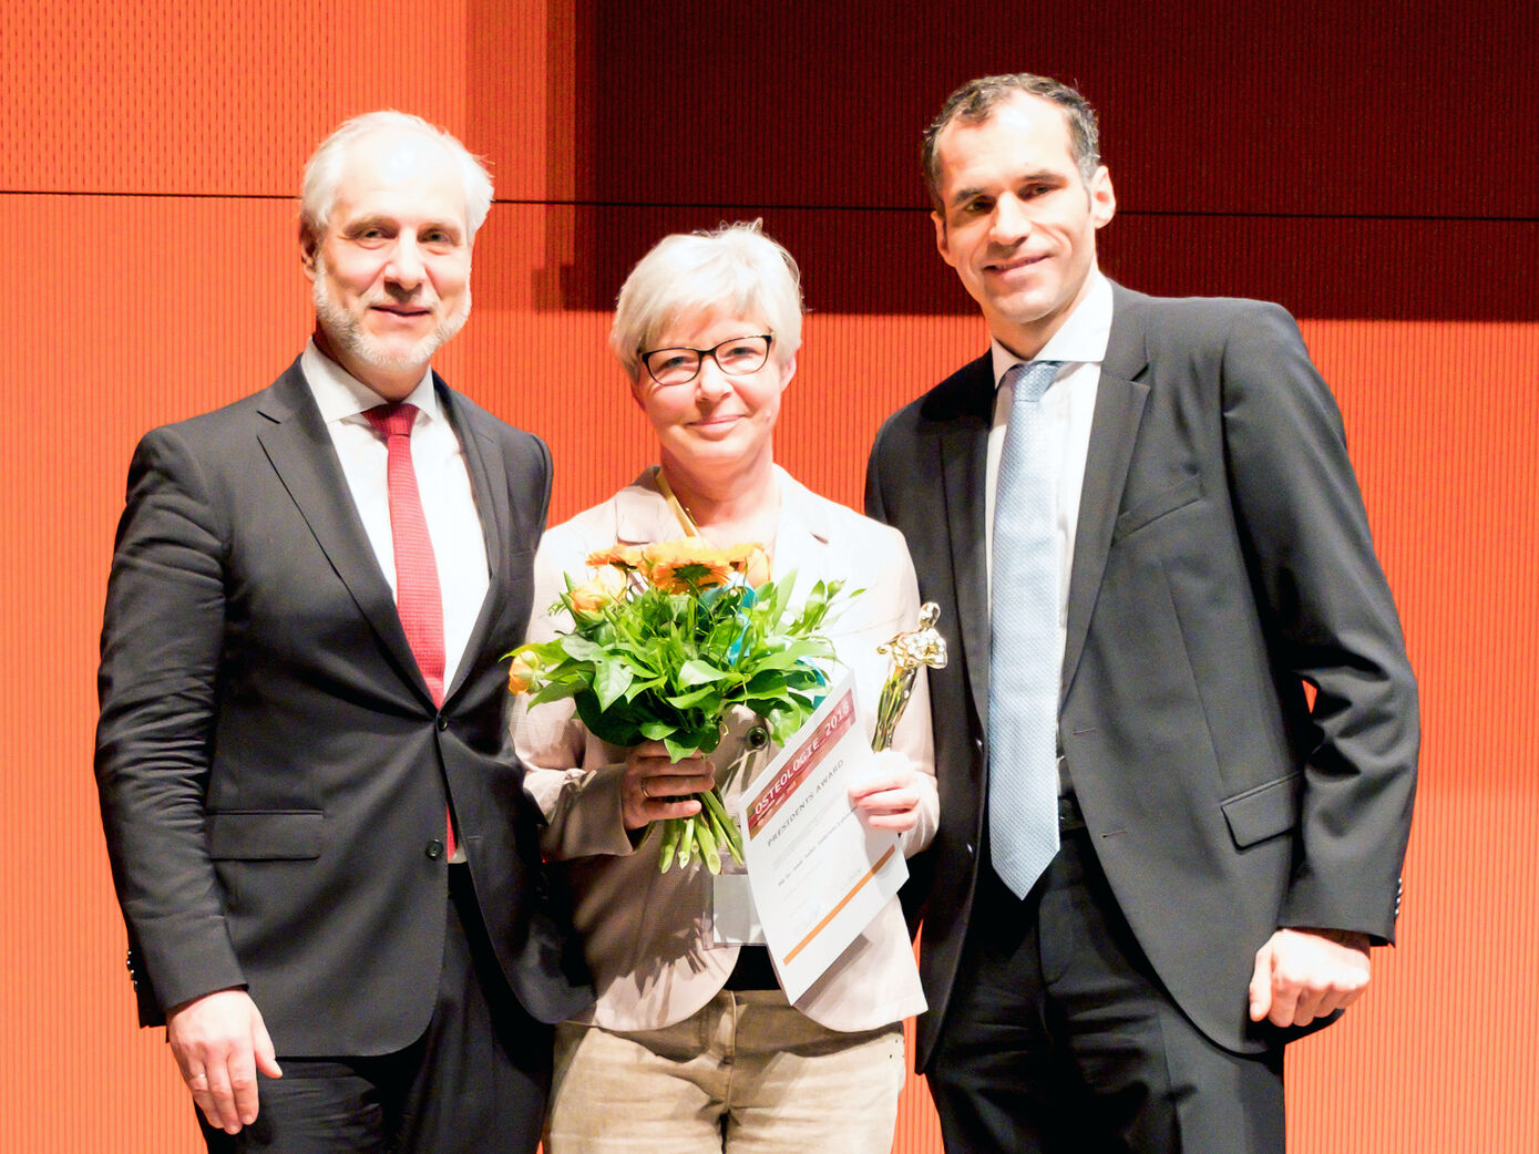
<path fill-rule="evenodd" d="M 257 1071 L 283 1077 L 257 1003 L 245 989 L 192 999 L 166 1016 L 166 1042 L 208 1125 L 226 1134 L 257 1120 Z"/>

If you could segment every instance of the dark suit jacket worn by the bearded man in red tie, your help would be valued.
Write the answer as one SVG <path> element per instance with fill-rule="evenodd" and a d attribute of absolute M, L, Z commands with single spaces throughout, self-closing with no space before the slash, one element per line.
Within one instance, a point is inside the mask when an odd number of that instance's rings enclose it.
<path fill-rule="evenodd" d="M 452 799 L 523 1006 L 591 1000 L 506 748 L 549 454 L 434 377 L 491 588 L 436 708 L 295 362 L 134 454 L 102 629 L 95 771 L 140 1020 L 246 986 L 279 1054 L 382 1054 L 437 992 Z"/>

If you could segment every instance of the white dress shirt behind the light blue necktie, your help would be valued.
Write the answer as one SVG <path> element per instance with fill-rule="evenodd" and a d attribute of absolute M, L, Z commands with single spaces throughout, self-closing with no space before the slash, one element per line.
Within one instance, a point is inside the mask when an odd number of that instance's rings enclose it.
<path fill-rule="evenodd" d="M 1100 386 L 1100 362 L 1107 359 L 1111 337 L 1111 282 L 1099 269 L 1091 271 L 1090 291 L 1063 322 L 1063 328 L 1042 348 L 1034 360 L 1063 362 L 1048 391 L 1042 394 L 1043 409 L 1063 440 L 1063 471 L 1057 483 L 1059 539 L 1059 620 L 1057 652 L 1063 660 L 1068 635 L 1068 577 L 1074 559 L 1074 528 L 1079 522 L 1079 497 L 1085 486 L 1085 457 L 1090 454 L 1090 425 L 1096 415 L 1096 391 Z M 1002 386 L 1005 372 L 1020 362 L 997 340 L 994 357 L 994 425 L 988 432 L 988 489 L 985 534 L 988 542 L 990 582 L 994 575 L 994 491 L 999 485 L 999 455 L 1010 425 L 1010 403 L 1014 389 Z M 993 592 L 993 589 L 991 589 Z"/>

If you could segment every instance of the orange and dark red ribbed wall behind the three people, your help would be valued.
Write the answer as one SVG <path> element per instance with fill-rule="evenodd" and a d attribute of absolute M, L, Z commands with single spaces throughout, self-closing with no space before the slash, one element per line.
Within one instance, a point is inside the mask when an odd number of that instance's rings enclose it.
<path fill-rule="evenodd" d="M 199 1148 L 162 1032 L 134 1028 L 89 768 L 95 645 L 137 437 L 268 383 L 308 332 L 309 149 L 396 106 L 491 158 L 474 317 L 439 368 L 551 443 L 554 519 L 651 460 L 605 349 L 625 271 L 666 231 L 762 215 L 813 309 L 777 454 L 859 506 L 882 417 L 985 342 L 933 251 L 919 131 L 959 82 L 1017 68 L 1102 111 L 1113 275 L 1300 317 L 1422 680 L 1400 945 L 1290 1051 L 1290 1151 L 1539 1149 L 1531 5 L 917 11 L 5 5 L 0 1149 Z M 939 1151 L 919 1082 L 897 1149 Z"/>

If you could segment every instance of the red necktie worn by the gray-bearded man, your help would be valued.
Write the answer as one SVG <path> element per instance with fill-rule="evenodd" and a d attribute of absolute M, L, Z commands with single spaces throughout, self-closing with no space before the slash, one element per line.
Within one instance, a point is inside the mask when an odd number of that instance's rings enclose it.
<path fill-rule="evenodd" d="M 439 565 L 432 559 L 428 519 L 422 512 L 417 471 L 411 463 L 411 426 L 416 405 L 380 405 L 365 417 L 385 439 L 388 452 L 389 531 L 396 545 L 396 612 L 406 631 L 406 643 L 417 657 L 417 668 L 428 683 L 434 705 L 443 705 L 443 597 L 439 592 Z M 448 829 L 449 857 L 454 857 L 454 820 Z"/>

